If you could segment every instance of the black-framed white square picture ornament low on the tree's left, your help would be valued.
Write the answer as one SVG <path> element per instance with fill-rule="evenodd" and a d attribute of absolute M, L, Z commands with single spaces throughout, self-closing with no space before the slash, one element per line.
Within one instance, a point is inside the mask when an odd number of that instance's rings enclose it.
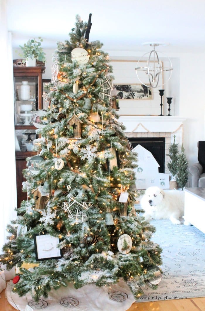
<path fill-rule="evenodd" d="M 36 261 L 62 258 L 59 243 L 59 238 L 50 234 L 34 234 Z"/>

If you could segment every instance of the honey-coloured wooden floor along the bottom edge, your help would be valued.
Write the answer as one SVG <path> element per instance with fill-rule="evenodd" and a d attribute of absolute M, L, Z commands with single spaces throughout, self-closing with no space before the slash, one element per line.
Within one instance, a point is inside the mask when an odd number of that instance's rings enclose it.
<path fill-rule="evenodd" d="M 15 311 L 7 302 L 4 290 L 1 292 L 0 311 Z M 69 310 L 69 308 L 68 308 Z M 184 300 L 166 300 L 155 302 L 140 302 L 133 304 L 127 311 L 205 311 L 205 297 Z M 45 309 L 46 311 L 46 309 Z M 92 310 L 90 310 L 92 311 Z M 103 311 L 103 309 L 102 309 Z M 114 310 L 111 310 L 114 311 Z"/>

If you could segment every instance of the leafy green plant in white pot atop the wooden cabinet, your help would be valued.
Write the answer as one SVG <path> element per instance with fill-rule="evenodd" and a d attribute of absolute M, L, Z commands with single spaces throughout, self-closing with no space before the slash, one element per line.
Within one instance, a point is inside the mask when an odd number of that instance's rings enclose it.
<path fill-rule="evenodd" d="M 23 52 L 23 58 L 24 62 L 26 62 L 26 66 L 33 66 L 35 67 L 36 59 L 40 62 L 45 62 L 45 53 L 43 52 L 43 49 L 41 47 L 41 42 L 43 42 L 43 39 L 41 37 L 38 37 L 39 41 L 36 39 L 29 39 L 27 43 L 25 43 L 23 46 L 20 45 L 20 48 Z M 29 63 L 29 61 L 32 60 L 33 63 Z"/>

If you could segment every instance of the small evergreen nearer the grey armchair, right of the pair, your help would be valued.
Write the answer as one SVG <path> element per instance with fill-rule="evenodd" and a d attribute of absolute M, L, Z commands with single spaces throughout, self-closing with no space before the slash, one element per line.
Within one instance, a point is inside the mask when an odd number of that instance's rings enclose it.
<path fill-rule="evenodd" d="M 186 155 L 184 154 L 184 146 L 181 146 L 181 152 L 178 155 L 177 160 L 177 174 L 176 174 L 176 181 L 180 188 L 184 188 L 185 184 L 188 181 L 188 160 Z"/>

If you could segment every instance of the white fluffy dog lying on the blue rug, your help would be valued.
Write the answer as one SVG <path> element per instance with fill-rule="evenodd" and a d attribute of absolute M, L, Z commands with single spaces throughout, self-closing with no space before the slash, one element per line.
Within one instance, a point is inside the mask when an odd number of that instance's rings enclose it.
<path fill-rule="evenodd" d="M 140 205 L 145 211 L 145 220 L 170 219 L 173 224 L 180 225 L 180 217 L 184 215 L 184 191 L 149 187 Z"/>

